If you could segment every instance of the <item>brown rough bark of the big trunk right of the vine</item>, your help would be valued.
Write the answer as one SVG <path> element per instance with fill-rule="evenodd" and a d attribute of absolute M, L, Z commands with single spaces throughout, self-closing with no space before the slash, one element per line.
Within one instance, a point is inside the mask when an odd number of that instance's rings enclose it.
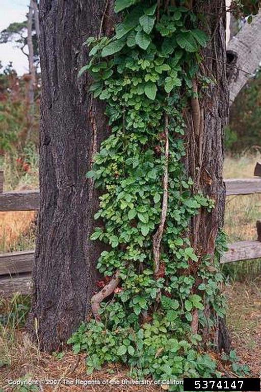
<path fill-rule="evenodd" d="M 215 208 L 209 213 L 205 209 L 201 210 L 193 219 L 191 240 L 197 255 L 202 257 L 208 254 L 213 257 L 217 234 L 223 226 L 225 207 L 223 141 L 224 127 L 228 120 L 225 0 L 206 0 L 198 5 L 197 10 L 206 15 L 205 25 L 209 29 L 207 34 L 212 37 L 202 53 L 200 65 L 201 74 L 212 82 L 202 92 L 200 81 L 194 82 L 199 91 L 198 124 L 195 124 L 193 111 L 196 109 L 193 109 L 188 127 L 187 167 L 189 175 L 194 179 L 194 191 L 200 191 L 214 199 Z M 197 277 L 195 268 L 193 273 Z M 227 335 L 224 331 L 220 332 L 219 346 L 222 349 L 226 345 L 227 349 L 229 339 L 221 345 L 221 335 Z"/>

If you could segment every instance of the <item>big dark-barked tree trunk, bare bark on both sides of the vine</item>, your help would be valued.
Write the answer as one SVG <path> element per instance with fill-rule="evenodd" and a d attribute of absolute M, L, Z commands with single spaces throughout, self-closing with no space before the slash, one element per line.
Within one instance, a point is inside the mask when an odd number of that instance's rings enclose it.
<path fill-rule="evenodd" d="M 28 328 L 40 349 L 47 351 L 60 349 L 87 316 L 96 280 L 95 262 L 101 247 L 88 238 L 95 226 L 98 195 L 85 173 L 100 141 L 107 136 L 106 120 L 103 107 L 87 93 L 86 77 L 78 80 L 77 72 L 87 62 L 82 46 L 86 38 L 99 34 L 101 21 L 103 32 L 110 33 L 112 6 L 112 0 L 40 3 L 40 212 Z M 210 195 L 216 206 L 211 213 L 201 211 L 193 219 L 191 239 L 197 254 L 213 256 L 225 201 L 225 12 L 220 16 L 225 0 L 198 2 L 197 9 L 206 14 L 212 37 L 203 52 L 201 71 L 213 82 L 201 94 L 199 105 L 194 105 L 199 116 L 188 113 L 187 168 L 195 181 L 195 192 Z M 200 92 L 200 81 L 194 81 L 194 86 Z M 193 329 L 197 330 L 195 323 Z"/>

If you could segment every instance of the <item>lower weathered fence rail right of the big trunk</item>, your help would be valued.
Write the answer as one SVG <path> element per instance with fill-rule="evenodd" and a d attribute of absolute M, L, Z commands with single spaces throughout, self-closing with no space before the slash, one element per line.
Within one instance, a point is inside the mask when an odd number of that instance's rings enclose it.
<path fill-rule="evenodd" d="M 221 263 L 232 261 L 252 260 L 261 258 L 261 242 L 240 241 L 228 245 L 228 251 L 221 259 Z"/>

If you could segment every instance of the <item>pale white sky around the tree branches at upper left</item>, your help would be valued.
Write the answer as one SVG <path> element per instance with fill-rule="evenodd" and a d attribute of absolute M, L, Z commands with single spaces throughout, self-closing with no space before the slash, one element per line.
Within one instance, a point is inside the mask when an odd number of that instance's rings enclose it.
<path fill-rule="evenodd" d="M 12 22 L 22 22 L 28 12 L 29 0 L 0 0 L 0 31 Z M 14 42 L 0 44 L 0 60 L 2 65 L 13 62 L 18 75 L 28 72 L 28 60 Z"/>

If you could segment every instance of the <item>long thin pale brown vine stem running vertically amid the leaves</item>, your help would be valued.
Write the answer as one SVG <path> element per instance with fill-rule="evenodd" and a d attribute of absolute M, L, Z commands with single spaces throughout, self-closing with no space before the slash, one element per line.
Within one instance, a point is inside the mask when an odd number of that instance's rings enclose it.
<path fill-rule="evenodd" d="M 153 235 L 153 258 L 154 258 L 154 275 L 158 274 L 160 267 L 160 248 L 163 230 L 166 222 L 167 209 L 168 209 L 168 180 L 169 180 L 169 117 L 168 114 L 165 113 L 165 169 L 164 169 L 164 177 L 163 177 L 163 201 L 162 201 L 162 210 L 161 210 L 161 223 Z"/>

